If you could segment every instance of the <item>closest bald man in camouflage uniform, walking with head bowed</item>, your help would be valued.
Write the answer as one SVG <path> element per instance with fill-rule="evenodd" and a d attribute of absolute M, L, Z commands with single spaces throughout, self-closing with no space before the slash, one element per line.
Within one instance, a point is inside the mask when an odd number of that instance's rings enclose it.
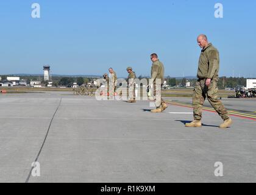
<path fill-rule="evenodd" d="M 193 91 L 194 121 L 187 123 L 185 126 L 202 126 L 202 107 L 207 98 L 212 107 L 215 108 L 216 112 L 224 120 L 220 128 L 227 128 L 232 124 L 232 119 L 229 118 L 226 108 L 218 99 L 219 52 L 212 43 L 208 43 L 206 35 L 199 35 L 197 42 L 202 51 L 197 71 L 198 80 Z"/>

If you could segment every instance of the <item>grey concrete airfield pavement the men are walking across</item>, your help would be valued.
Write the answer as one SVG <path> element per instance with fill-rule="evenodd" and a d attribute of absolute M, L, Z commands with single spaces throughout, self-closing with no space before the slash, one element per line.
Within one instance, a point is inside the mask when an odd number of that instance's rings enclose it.
<path fill-rule="evenodd" d="M 209 110 L 202 128 L 185 128 L 191 99 L 171 100 L 154 114 L 148 101 L 0 94 L 0 182 L 256 182 L 255 99 L 222 100 L 244 113 L 226 130 Z"/>

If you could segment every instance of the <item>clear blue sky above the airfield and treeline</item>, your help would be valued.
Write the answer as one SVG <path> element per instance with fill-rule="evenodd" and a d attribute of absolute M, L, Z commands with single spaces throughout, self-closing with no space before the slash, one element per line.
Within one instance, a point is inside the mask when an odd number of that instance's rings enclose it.
<path fill-rule="evenodd" d="M 31 5 L 41 18 L 31 17 Z M 216 19 L 215 4 L 224 6 Z M 220 75 L 256 77 L 256 1 L 202 0 L 2 0 L 0 74 L 99 74 L 113 67 L 119 77 L 132 66 L 149 76 L 157 52 L 166 76 L 196 76 L 207 34 L 219 49 Z"/>

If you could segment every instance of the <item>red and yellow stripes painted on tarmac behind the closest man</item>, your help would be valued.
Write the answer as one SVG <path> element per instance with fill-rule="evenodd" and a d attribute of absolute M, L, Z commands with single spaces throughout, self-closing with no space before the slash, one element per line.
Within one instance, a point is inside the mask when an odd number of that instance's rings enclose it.
<path fill-rule="evenodd" d="M 178 105 L 178 106 L 181 106 L 181 107 L 193 108 L 193 106 L 191 104 L 184 104 L 184 103 L 178 103 L 178 102 L 172 102 L 172 101 L 171 102 L 166 101 L 166 102 L 170 105 Z M 208 111 L 208 112 L 216 112 L 213 108 L 208 108 L 208 107 L 203 107 L 203 110 Z M 231 116 L 256 121 L 256 115 L 250 115 L 250 114 L 231 111 L 231 110 L 228 110 L 228 112 Z"/>

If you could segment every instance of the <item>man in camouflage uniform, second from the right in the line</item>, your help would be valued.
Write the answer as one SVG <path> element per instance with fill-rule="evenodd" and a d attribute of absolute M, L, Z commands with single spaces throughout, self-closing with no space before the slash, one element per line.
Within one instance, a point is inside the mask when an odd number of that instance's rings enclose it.
<path fill-rule="evenodd" d="M 167 108 L 167 105 L 162 97 L 157 97 L 157 94 L 161 96 L 161 88 L 165 81 L 165 67 L 163 66 L 163 63 L 158 60 L 157 54 L 151 54 L 151 60 L 153 62 L 151 67 L 151 79 L 154 82 L 154 99 L 155 107 L 157 107 L 155 110 L 151 110 L 151 112 L 161 113 Z M 161 80 L 161 86 L 157 86 L 157 79 Z M 151 85 L 151 83 L 149 83 L 149 85 Z"/>

